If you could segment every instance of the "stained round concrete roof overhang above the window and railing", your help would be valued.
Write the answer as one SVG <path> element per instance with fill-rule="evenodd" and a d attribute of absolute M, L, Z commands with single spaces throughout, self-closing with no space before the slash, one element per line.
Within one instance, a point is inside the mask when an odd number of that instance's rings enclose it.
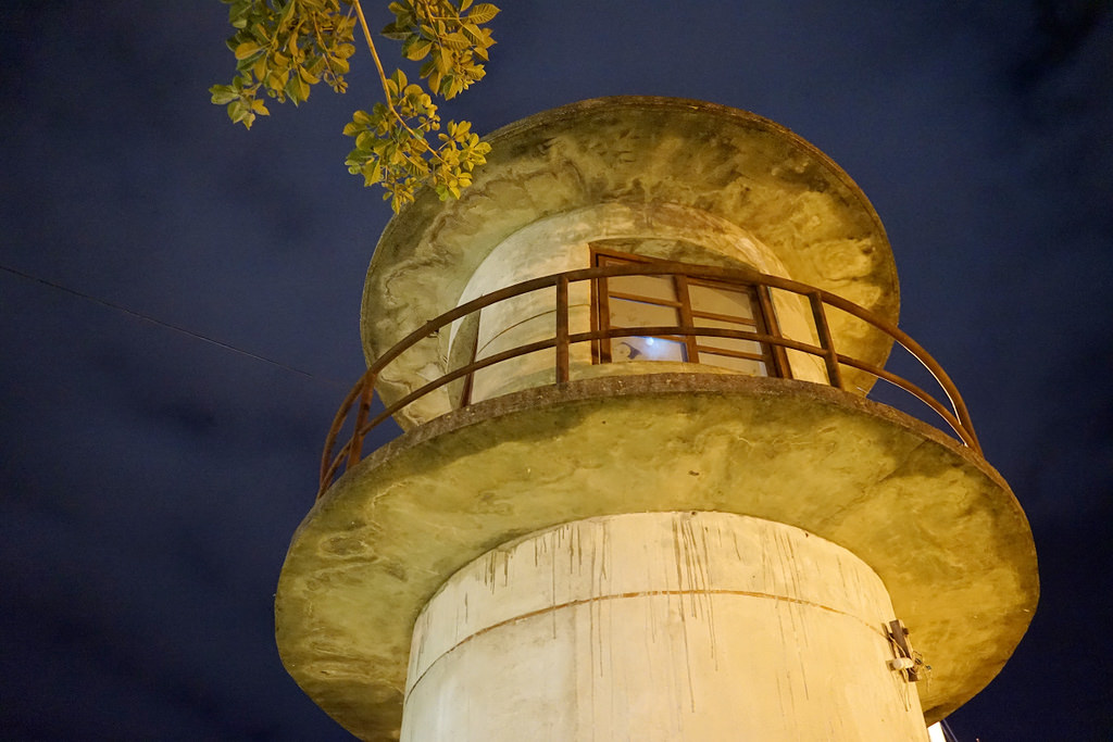
<path fill-rule="evenodd" d="M 682 241 L 668 257 L 752 265 L 896 323 L 896 268 L 873 206 L 829 158 L 772 121 L 692 100 L 603 98 L 532 116 L 489 140 L 489 161 L 462 198 L 442 204 L 424 192 L 383 233 L 364 290 L 368 362 L 457 306 L 487 256 L 523 230 L 550 230 L 544 255 L 595 239 Z M 839 313 L 831 321 L 841 353 L 884 365 L 888 336 Z M 442 375 L 450 335 L 400 358 L 381 378 L 384 399 Z M 873 384 L 846 373 L 849 388 Z M 444 389 L 397 419 L 408 428 L 451 407 Z"/>

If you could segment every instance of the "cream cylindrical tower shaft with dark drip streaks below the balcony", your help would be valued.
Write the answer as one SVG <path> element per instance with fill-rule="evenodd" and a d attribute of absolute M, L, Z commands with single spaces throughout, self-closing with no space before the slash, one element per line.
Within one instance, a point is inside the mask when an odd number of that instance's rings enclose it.
<path fill-rule="evenodd" d="M 455 573 L 414 627 L 403 742 L 927 742 L 854 554 L 726 513 L 578 521 Z"/>

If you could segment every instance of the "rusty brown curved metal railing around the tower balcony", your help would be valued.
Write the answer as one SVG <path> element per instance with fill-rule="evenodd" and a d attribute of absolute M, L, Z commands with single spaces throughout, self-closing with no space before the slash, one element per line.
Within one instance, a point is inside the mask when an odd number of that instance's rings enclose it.
<path fill-rule="evenodd" d="M 569 285 L 578 281 L 597 281 L 598 285 L 599 281 L 618 276 L 684 276 L 696 279 L 713 280 L 722 284 L 733 284 L 740 287 L 754 287 L 757 289 L 760 304 L 766 307 L 767 311 L 769 311 L 769 307 L 772 306 L 772 290 L 787 291 L 789 294 L 802 296 L 807 299 L 808 306 L 811 310 L 811 317 L 815 323 L 815 330 L 819 344 L 812 345 L 810 343 L 804 343 L 797 339 L 784 337 L 777 328 L 776 321 L 770 323 L 770 327 L 766 333 L 684 325 L 601 329 L 593 327 L 591 332 L 588 333 L 571 333 L 569 329 Z M 511 348 L 479 360 L 473 359 L 472 363 L 452 369 L 440 378 L 436 378 L 402 396 L 392 404 L 385 405 L 385 408 L 381 413 L 378 413 L 375 417 L 370 418 L 372 396 L 374 394 L 375 383 L 378 379 L 380 374 L 382 374 L 383 369 L 405 350 L 415 346 L 421 340 L 435 335 L 442 328 L 466 317 L 467 315 L 477 313 L 486 307 L 499 304 L 500 301 L 505 301 L 506 299 L 546 288 L 556 289 L 555 333 L 553 337 Z M 598 290 L 599 289 L 597 289 L 597 293 Z M 830 325 L 827 318 L 828 308 L 845 311 L 846 314 L 865 321 L 869 326 L 885 333 L 897 344 L 904 347 L 930 373 L 944 393 L 948 405 L 944 405 L 920 387 L 892 372 L 838 353 L 838 349 L 835 347 L 835 339 L 831 335 Z M 878 379 L 884 379 L 912 394 L 934 410 L 939 417 L 942 417 L 951 429 L 954 431 L 954 434 L 959 441 L 962 441 L 962 443 L 978 454 L 982 453 L 977 437 L 974 434 L 974 426 L 971 423 L 969 414 L 966 410 L 966 405 L 963 402 L 962 396 L 958 394 L 958 389 L 956 389 L 954 383 L 952 383 L 951 377 L 947 376 L 947 373 L 943 370 L 943 367 L 939 366 L 939 364 L 923 347 L 920 347 L 918 343 L 889 321 L 874 315 L 869 310 L 859 307 L 851 301 L 836 296 L 835 294 L 830 294 L 829 291 L 825 291 L 814 286 L 808 286 L 807 284 L 789 280 L 787 278 L 769 276 L 756 270 L 740 268 L 719 268 L 712 266 L 696 266 L 681 263 L 659 261 L 653 264 L 631 264 L 583 268 L 580 270 L 569 270 L 565 273 L 553 274 L 551 276 L 533 278 L 514 286 L 508 286 L 506 288 L 492 291 L 491 294 L 485 294 L 476 299 L 467 301 L 466 304 L 460 305 L 459 307 L 442 314 L 440 317 L 429 320 L 410 335 L 405 336 L 402 340 L 395 344 L 394 347 L 380 356 L 378 359 L 375 360 L 370 368 L 367 368 L 366 373 L 359 377 L 359 380 L 352 387 L 352 390 L 348 392 L 347 396 L 344 397 L 344 402 L 341 404 L 339 410 L 336 413 L 336 417 L 333 419 L 333 425 L 328 431 L 328 436 L 325 439 L 325 449 L 321 462 L 321 488 L 317 493 L 317 497 L 321 497 L 321 495 L 323 495 L 324 492 L 332 485 L 342 467 L 354 466 L 361 461 L 363 455 L 364 438 L 375 426 L 414 400 L 424 397 L 446 384 L 451 384 L 452 382 L 461 378 L 470 379 L 476 372 L 494 366 L 495 364 L 550 348 L 555 349 L 555 382 L 556 384 L 564 384 L 569 380 L 569 348 L 573 344 L 598 343 L 607 338 L 615 337 L 641 336 L 700 336 L 754 340 L 765 344 L 771 348 L 775 363 L 769 369 L 770 375 L 781 377 L 788 376 L 788 373 L 785 370 L 789 366 L 786 359 L 787 350 L 798 350 L 820 358 L 826 370 L 828 383 L 837 388 L 844 387 L 841 367 L 846 366 L 849 368 L 856 368 L 875 376 Z M 353 421 L 352 437 L 344 445 L 337 448 L 337 438 L 339 437 L 341 431 L 346 424 L 348 417 L 352 415 L 353 409 L 355 410 L 355 419 Z"/>

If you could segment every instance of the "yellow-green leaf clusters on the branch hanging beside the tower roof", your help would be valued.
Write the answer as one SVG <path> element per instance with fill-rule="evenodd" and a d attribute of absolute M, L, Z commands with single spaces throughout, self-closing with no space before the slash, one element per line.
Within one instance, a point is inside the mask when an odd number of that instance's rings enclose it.
<path fill-rule="evenodd" d="M 209 89 L 213 102 L 227 106 L 228 117 L 248 129 L 269 111 L 262 93 L 298 105 L 312 86 L 324 82 L 344 92 L 348 58 L 355 53 L 358 22 L 382 82 L 384 102 L 368 113 L 357 110 L 344 133 L 355 138 L 345 161 L 364 185 L 382 185 L 397 211 L 421 186 L 433 187 L 442 200 L 459 197 L 485 161 L 491 146 L 472 132 L 467 121 L 441 118 L 430 93 L 454 98 L 483 79 L 494 39 L 484 24 L 499 8 L 472 0 L 395 0 L 394 22 L 383 29 L 402 42 L 402 55 L 422 62 L 420 76 L 430 91 L 410 82 L 402 70 L 390 77 L 359 6 L 359 0 L 221 0 L 236 29 L 228 48 L 236 56 L 236 78 Z M 432 135 L 436 135 L 435 138 Z M 431 140 L 433 144 L 431 144 Z"/>

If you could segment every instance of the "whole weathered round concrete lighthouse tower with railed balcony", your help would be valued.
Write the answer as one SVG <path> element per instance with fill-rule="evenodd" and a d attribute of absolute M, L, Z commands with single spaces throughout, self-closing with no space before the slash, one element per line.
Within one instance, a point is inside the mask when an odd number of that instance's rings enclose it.
<path fill-rule="evenodd" d="M 490 141 L 375 250 L 370 368 L 279 580 L 289 673 L 367 740 L 927 740 L 1038 580 L 958 392 L 897 328 L 869 201 L 698 101 Z M 937 388 L 885 369 L 898 347 Z"/>

